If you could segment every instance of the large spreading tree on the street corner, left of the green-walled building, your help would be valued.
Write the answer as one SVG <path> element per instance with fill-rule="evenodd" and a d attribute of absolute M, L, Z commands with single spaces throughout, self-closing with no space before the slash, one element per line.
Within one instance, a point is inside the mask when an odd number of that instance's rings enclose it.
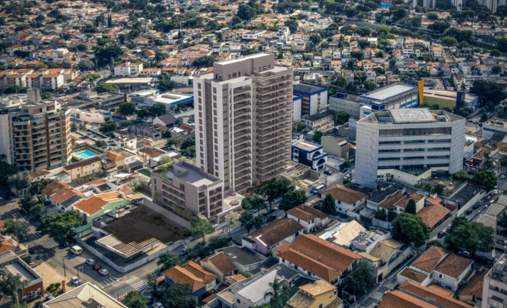
<path fill-rule="evenodd" d="M 84 216 L 76 210 L 53 213 L 42 217 L 37 231 L 49 235 L 53 240 L 71 240 L 76 235 L 76 227 L 83 225 Z"/>

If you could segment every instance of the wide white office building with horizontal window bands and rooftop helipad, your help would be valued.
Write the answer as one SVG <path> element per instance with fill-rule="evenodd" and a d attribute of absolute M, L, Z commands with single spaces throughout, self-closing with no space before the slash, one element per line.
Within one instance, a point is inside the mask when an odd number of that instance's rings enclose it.
<path fill-rule="evenodd" d="M 358 120 L 356 183 L 376 180 L 414 185 L 433 172 L 456 173 L 463 165 L 465 119 L 428 108 L 390 109 Z"/>

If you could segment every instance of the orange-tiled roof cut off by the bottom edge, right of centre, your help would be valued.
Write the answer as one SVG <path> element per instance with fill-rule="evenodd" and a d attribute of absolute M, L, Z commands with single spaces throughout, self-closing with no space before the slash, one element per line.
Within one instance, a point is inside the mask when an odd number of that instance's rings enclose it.
<path fill-rule="evenodd" d="M 470 308 L 468 304 L 453 298 L 453 292 L 432 285 L 424 287 L 415 282 L 406 281 L 398 289 L 387 292 L 377 308 Z"/>

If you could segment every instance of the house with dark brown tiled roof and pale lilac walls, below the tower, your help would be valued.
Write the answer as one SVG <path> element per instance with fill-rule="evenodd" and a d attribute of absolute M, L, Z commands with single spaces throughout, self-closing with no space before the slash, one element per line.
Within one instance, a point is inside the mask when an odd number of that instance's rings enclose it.
<path fill-rule="evenodd" d="M 293 242 L 302 232 L 303 227 L 296 220 L 281 218 L 244 237 L 241 247 L 248 247 L 261 255 L 267 255 L 283 242 Z"/>

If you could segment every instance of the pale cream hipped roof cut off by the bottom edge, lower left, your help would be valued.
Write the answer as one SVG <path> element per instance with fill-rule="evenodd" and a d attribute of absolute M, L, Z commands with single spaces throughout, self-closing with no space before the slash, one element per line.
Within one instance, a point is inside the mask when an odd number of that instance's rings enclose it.
<path fill-rule="evenodd" d="M 79 287 L 75 287 L 54 299 L 44 302 L 44 308 L 61 307 L 107 307 L 107 308 L 127 308 L 114 297 L 109 296 L 101 288 L 90 282 L 84 282 Z"/>

